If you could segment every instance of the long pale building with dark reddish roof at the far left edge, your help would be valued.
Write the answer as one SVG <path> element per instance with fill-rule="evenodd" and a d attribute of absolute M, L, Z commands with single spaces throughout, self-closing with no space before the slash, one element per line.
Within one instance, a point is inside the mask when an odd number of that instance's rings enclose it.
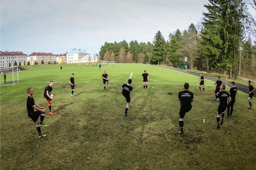
<path fill-rule="evenodd" d="M 9 67 L 9 63 L 11 63 L 11 66 L 14 65 L 14 62 L 17 62 L 17 65 L 19 63 L 24 66 L 27 63 L 27 55 L 22 53 L 22 51 L 0 51 L 0 68 L 6 68 Z"/>

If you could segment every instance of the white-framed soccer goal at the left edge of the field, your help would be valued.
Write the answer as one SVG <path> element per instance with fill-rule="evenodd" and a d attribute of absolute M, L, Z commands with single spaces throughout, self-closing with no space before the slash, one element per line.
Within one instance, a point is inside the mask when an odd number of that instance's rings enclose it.
<path fill-rule="evenodd" d="M 0 68 L 0 85 L 15 85 L 17 83 L 19 83 L 18 66 Z"/>

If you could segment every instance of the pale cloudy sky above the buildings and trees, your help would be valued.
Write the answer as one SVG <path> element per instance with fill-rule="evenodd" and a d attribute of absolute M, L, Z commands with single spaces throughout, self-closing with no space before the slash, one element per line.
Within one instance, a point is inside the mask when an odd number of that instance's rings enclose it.
<path fill-rule="evenodd" d="M 207 0 L 1 0 L 1 50 L 98 53 L 105 42 L 152 43 L 195 25 Z"/>

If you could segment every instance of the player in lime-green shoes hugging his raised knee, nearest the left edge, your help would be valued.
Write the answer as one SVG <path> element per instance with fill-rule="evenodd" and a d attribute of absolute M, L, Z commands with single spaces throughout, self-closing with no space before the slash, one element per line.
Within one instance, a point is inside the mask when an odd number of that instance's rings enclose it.
<path fill-rule="evenodd" d="M 37 127 L 37 132 L 39 134 L 39 138 L 46 137 L 46 134 L 41 133 L 40 127 L 47 127 L 48 125 L 43 124 L 43 118 L 46 113 L 46 109 L 36 104 L 33 94 L 34 91 L 32 88 L 27 89 L 28 92 L 28 98 L 27 98 L 27 111 L 28 111 L 28 117 L 35 122 Z M 37 111 L 34 111 L 37 110 Z M 40 123 L 38 122 L 38 117 L 40 116 Z"/>

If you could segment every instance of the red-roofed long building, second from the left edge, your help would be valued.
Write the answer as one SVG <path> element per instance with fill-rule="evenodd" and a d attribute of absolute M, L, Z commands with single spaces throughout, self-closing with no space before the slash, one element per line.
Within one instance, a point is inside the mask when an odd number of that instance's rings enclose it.
<path fill-rule="evenodd" d="M 45 53 L 45 52 L 38 52 L 38 53 L 31 53 L 30 55 L 27 56 L 27 61 L 30 62 L 30 65 L 35 64 L 41 64 L 41 61 L 43 61 L 43 64 L 54 64 L 56 63 L 56 55 L 52 53 Z"/>

